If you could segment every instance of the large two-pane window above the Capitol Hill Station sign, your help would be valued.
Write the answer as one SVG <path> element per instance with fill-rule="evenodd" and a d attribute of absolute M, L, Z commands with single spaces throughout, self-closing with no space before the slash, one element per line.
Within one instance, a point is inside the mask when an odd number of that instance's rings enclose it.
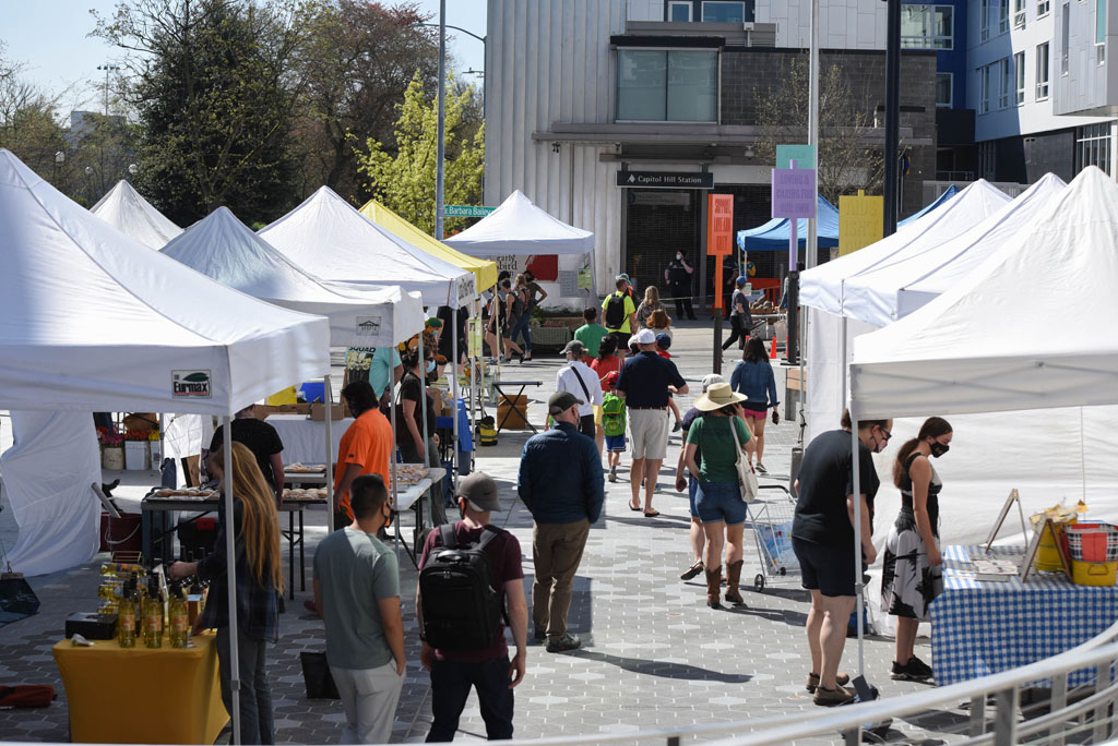
<path fill-rule="evenodd" d="M 618 50 L 616 119 L 718 122 L 718 52 Z"/>

